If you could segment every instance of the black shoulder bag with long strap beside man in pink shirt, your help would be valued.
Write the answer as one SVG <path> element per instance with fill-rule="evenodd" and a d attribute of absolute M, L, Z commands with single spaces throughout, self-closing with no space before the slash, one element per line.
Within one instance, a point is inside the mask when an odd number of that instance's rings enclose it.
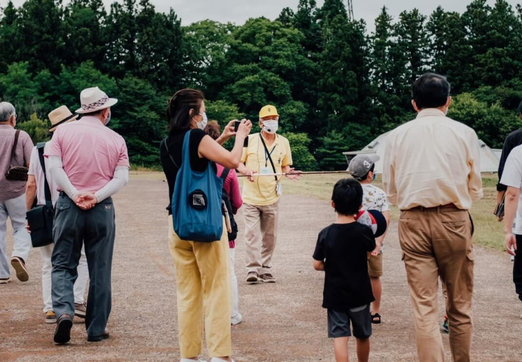
<path fill-rule="evenodd" d="M 53 243 L 54 208 L 51 201 L 51 190 L 45 177 L 45 163 L 43 162 L 43 147 L 45 142 L 37 144 L 40 165 L 43 171 L 45 204 L 32 208 L 26 213 L 27 223 L 31 230 L 31 243 L 33 248 Z"/>

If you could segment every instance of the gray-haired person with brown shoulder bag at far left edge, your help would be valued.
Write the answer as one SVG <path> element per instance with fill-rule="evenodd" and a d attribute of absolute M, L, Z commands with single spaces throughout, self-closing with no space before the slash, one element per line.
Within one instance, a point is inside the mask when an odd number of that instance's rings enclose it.
<path fill-rule="evenodd" d="M 16 130 L 16 111 L 13 104 L 0 102 L 0 284 L 9 281 L 5 234 L 7 218 L 13 225 L 13 254 L 11 265 L 22 282 L 29 279 L 26 269 L 31 250 L 31 237 L 27 233 L 25 180 L 8 179 L 5 174 L 11 166 L 29 166 L 33 143 L 29 135 Z"/>

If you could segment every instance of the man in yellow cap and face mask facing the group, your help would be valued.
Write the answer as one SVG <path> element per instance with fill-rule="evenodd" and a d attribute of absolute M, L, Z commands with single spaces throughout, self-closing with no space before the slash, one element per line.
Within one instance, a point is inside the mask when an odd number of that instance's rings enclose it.
<path fill-rule="evenodd" d="M 243 184 L 245 215 L 246 269 L 248 284 L 275 283 L 270 272 L 276 246 L 281 178 L 269 174 L 286 173 L 286 177 L 301 178 L 301 171 L 292 167 L 292 152 L 288 139 L 277 135 L 279 114 L 273 105 L 259 111 L 261 131 L 245 140 L 238 171 L 250 182 Z M 263 176 L 267 175 L 267 176 Z"/>

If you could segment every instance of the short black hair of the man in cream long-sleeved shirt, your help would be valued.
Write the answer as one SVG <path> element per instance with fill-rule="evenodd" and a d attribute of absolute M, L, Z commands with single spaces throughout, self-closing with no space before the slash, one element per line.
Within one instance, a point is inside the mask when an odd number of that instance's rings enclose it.
<path fill-rule="evenodd" d="M 435 73 L 425 73 L 413 82 L 411 96 L 419 110 L 438 108 L 446 104 L 449 90 L 449 82 L 446 77 Z"/>

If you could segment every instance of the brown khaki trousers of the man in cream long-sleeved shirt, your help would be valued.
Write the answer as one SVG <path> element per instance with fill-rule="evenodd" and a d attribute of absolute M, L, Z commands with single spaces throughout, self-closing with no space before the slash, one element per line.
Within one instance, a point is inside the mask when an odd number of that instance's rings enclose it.
<path fill-rule="evenodd" d="M 453 360 L 469 361 L 474 251 L 468 212 L 444 207 L 401 211 L 399 242 L 413 304 L 419 360 L 444 361 L 437 305 L 440 275 L 447 292 Z"/>

